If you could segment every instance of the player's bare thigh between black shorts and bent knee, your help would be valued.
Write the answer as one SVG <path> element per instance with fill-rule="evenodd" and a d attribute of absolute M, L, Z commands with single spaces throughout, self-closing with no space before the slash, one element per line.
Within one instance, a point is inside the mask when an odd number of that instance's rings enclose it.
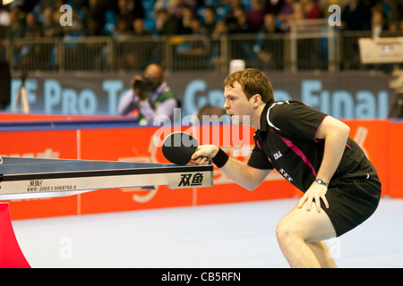
<path fill-rule="evenodd" d="M 314 204 L 314 203 L 313 203 Z M 315 206 L 307 211 L 305 206 L 297 205 L 284 216 L 278 225 L 278 229 L 301 237 L 306 242 L 328 240 L 336 236 L 336 231 L 328 214 L 323 210 L 318 212 Z"/>

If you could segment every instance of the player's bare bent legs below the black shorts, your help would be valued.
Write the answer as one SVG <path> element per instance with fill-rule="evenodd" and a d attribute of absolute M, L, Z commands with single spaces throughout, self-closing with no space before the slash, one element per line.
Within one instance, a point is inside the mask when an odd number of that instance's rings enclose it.
<path fill-rule="evenodd" d="M 294 207 L 277 227 L 279 246 L 291 267 L 336 267 L 324 242 L 336 236 L 329 216 L 313 206 Z M 323 243 L 323 244 L 322 244 Z"/>

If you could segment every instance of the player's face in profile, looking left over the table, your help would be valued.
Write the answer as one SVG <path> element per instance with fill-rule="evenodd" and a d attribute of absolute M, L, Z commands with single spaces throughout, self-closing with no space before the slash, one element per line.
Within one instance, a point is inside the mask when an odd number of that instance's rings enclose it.
<path fill-rule="evenodd" d="M 234 88 L 230 86 L 224 88 L 224 97 L 226 99 L 224 108 L 233 124 L 243 125 L 250 122 L 253 104 L 247 99 L 244 89 L 238 82 L 234 84 Z"/>

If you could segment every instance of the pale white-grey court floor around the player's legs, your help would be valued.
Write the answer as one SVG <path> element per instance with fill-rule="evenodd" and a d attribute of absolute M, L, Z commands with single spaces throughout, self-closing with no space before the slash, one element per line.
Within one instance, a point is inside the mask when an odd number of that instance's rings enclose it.
<path fill-rule="evenodd" d="M 288 267 L 276 239 L 297 199 L 13 221 L 33 268 Z M 403 199 L 328 240 L 339 267 L 403 267 Z"/>

